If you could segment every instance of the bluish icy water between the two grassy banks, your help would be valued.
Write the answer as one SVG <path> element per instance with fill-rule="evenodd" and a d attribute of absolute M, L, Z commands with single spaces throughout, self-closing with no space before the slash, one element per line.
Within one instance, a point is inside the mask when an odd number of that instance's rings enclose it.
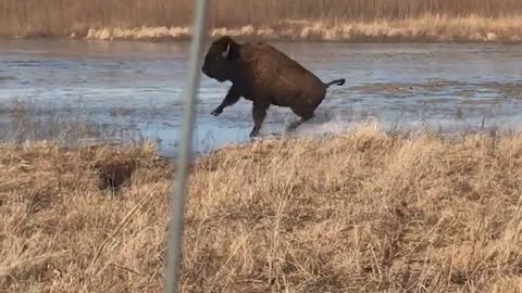
<path fill-rule="evenodd" d="M 442 131 L 481 127 L 483 118 L 486 127 L 517 128 L 520 123 L 522 46 L 273 44 L 325 81 L 347 80 L 328 89 L 318 117 L 298 135 L 340 131 L 369 119 Z M 162 152 L 174 154 L 188 49 L 188 42 L 2 40 L 0 102 L 30 98 L 51 111 L 67 105 L 92 119 L 158 138 Z M 210 115 L 228 87 L 202 76 L 198 151 L 248 141 L 248 101 L 241 99 L 221 116 Z M 263 132 L 281 133 L 295 118 L 289 110 L 272 106 Z"/>

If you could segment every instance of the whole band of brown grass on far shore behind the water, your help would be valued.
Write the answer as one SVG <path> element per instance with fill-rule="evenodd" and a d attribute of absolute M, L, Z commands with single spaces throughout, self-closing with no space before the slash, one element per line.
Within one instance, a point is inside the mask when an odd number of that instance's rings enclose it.
<path fill-rule="evenodd" d="M 210 34 L 326 41 L 522 40 L 519 0 L 210 1 Z M 190 37 L 189 0 L 2 0 L 0 36 Z"/>

